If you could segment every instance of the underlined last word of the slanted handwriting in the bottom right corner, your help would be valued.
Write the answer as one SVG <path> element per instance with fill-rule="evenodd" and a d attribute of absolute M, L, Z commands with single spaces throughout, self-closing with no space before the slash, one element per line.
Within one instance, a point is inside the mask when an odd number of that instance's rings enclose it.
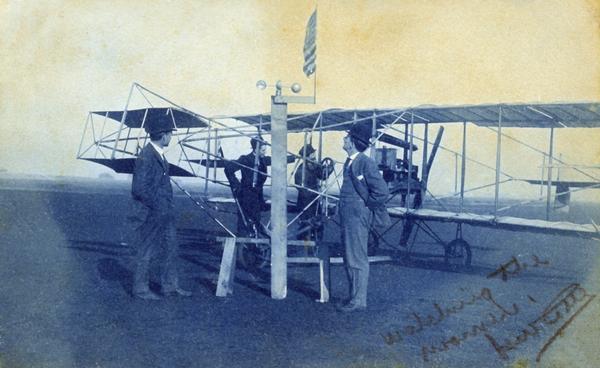
<path fill-rule="evenodd" d="M 580 305 L 577 310 L 564 321 L 556 332 L 544 343 L 537 354 L 536 361 L 540 361 L 544 352 L 556 340 L 556 338 L 567 328 L 571 322 L 585 309 L 596 295 L 588 294 L 588 292 L 579 284 L 571 284 L 562 289 L 557 296 L 552 299 L 544 311 L 533 321 L 527 324 L 527 327 L 514 338 L 505 339 L 503 343 L 499 343 L 496 338 L 490 334 L 485 334 L 486 339 L 498 353 L 501 359 L 508 359 L 508 352 L 516 349 L 519 345 L 526 342 L 529 337 L 536 337 L 545 328 L 552 326 L 562 321 L 576 306 Z"/>

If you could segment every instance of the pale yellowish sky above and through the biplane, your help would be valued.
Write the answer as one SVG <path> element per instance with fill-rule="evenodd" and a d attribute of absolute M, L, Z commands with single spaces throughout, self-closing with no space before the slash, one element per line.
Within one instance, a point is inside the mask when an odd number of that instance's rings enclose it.
<path fill-rule="evenodd" d="M 0 168 L 105 172 L 75 159 L 85 118 L 90 110 L 122 109 L 134 81 L 204 115 L 267 112 L 269 93 L 254 87 L 259 79 L 300 82 L 310 93 L 302 46 L 315 5 L 3 1 Z M 290 110 L 600 101 L 600 5 L 321 1 L 317 83 L 318 104 Z M 547 131 L 507 133 L 547 149 Z M 493 134 L 468 137 L 468 153 L 493 164 Z M 326 142 L 332 155 L 343 156 L 339 136 Z M 600 163 L 599 142 L 600 129 L 556 131 L 556 152 L 573 163 Z M 458 149 L 459 135 L 449 130 L 444 144 Z M 508 141 L 503 150 L 507 171 L 539 173 L 541 156 L 523 159 L 522 148 Z M 452 160 L 440 156 L 436 165 L 453 173 Z"/>

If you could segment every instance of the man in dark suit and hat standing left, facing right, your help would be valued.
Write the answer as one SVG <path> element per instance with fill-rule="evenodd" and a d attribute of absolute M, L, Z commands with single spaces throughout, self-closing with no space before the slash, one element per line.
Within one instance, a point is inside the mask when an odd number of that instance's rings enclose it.
<path fill-rule="evenodd" d="M 160 297 L 150 291 L 150 260 L 162 250 L 161 291 L 163 295 L 191 296 L 179 287 L 177 276 L 178 248 L 175 237 L 173 189 L 169 177 L 169 163 L 163 149 L 171 141 L 173 122 L 151 119 L 144 127 L 150 135 L 148 143 L 140 152 L 133 171 L 131 194 L 134 206 L 134 246 L 137 249 L 133 276 L 133 295 L 145 300 Z"/>

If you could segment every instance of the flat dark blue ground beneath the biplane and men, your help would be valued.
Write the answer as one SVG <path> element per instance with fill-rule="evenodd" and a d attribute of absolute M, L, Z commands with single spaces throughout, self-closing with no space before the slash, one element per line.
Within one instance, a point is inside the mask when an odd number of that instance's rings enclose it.
<path fill-rule="evenodd" d="M 289 268 L 284 300 L 270 298 L 268 274 L 244 270 L 216 297 L 215 226 L 178 196 L 181 284 L 194 295 L 148 302 L 131 297 L 127 185 L 1 184 L 2 368 L 600 366 L 595 240 L 466 226 L 471 269 L 419 243 L 421 257 L 372 265 L 368 310 L 341 314 L 315 302 L 315 266 Z M 575 203 L 565 216 L 598 213 Z M 447 240 L 455 230 L 433 228 Z M 506 279 L 490 276 L 502 264 Z M 332 282 L 343 298 L 341 266 Z"/>

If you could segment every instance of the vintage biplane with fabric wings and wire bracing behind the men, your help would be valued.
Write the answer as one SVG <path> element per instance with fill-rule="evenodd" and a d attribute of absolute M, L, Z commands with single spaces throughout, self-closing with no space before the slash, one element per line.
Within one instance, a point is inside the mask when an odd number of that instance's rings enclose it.
<path fill-rule="evenodd" d="M 129 109 L 132 94 L 138 93 L 142 97 L 145 107 Z M 219 202 L 235 203 L 235 198 L 228 191 L 228 182 L 222 175 L 222 168 L 226 162 L 235 160 L 244 151 L 237 150 L 240 139 L 247 141 L 249 137 L 260 133 L 265 144 L 269 143 L 271 132 L 271 116 L 269 114 L 219 116 L 207 117 L 185 109 L 168 99 L 158 95 L 147 88 L 134 83 L 131 87 L 126 107 L 120 111 L 92 111 L 88 114 L 84 133 L 77 154 L 78 159 L 88 160 L 105 165 L 117 173 L 131 173 L 137 153 L 147 142 L 143 127 L 152 119 L 169 119 L 177 127 L 174 134 L 175 147 L 169 152 L 171 162 L 170 173 L 174 177 L 196 177 L 204 182 L 204 193 L 193 197 L 189 192 L 176 182 L 180 189 L 192 198 L 196 204 L 205 211 L 211 212 L 211 218 L 219 225 L 225 235 L 235 236 L 231 225 L 219 219 L 218 212 L 213 211 L 212 204 Z M 320 183 L 315 191 L 318 196 L 318 206 L 315 217 L 319 225 L 325 221 L 327 226 L 335 226 L 335 203 L 341 179 L 342 160 L 324 158 L 324 152 L 339 150 L 339 147 L 324 147 L 323 140 L 326 134 L 343 132 L 352 124 L 359 121 L 369 121 L 373 125 L 372 148 L 370 154 L 379 165 L 384 179 L 388 182 L 391 197 L 388 201 L 388 212 L 395 218 L 395 222 L 388 234 L 374 234 L 373 243 L 381 248 L 389 246 L 405 255 L 410 255 L 410 250 L 417 243 L 419 233 L 426 234 L 439 243 L 443 249 L 445 262 L 455 266 L 469 266 L 471 264 L 472 250 L 469 243 L 463 238 L 463 225 L 483 226 L 495 229 L 543 232 L 564 236 L 586 238 L 600 237 L 600 228 L 590 219 L 590 223 L 581 224 L 564 221 L 550 221 L 550 213 L 554 207 L 552 197 L 557 205 L 566 205 L 571 193 L 583 189 L 600 187 L 600 178 L 590 174 L 585 167 L 569 165 L 557 158 L 554 153 L 555 129 L 572 128 L 600 128 L 600 103 L 533 103 L 533 104 L 487 104 L 463 106 L 418 106 L 396 109 L 328 109 L 310 113 L 292 113 L 287 118 L 289 137 L 297 135 L 297 141 L 304 145 L 315 142 L 317 147 L 316 164 L 332 165 L 333 174 Z M 446 124 L 459 124 L 462 126 L 462 148 L 452 151 L 442 145 L 444 126 Z M 496 158 L 495 165 L 489 165 L 474 158 L 467 157 L 467 127 L 483 127 L 490 129 L 495 134 Z M 416 127 L 422 136 L 415 133 Z M 430 140 L 430 127 L 437 128 L 437 134 Z M 550 133 L 549 149 L 543 152 L 526 142 L 503 133 L 504 128 L 537 128 L 545 129 Z M 91 139 L 91 143 L 84 146 L 84 142 Z M 523 144 L 529 149 L 544 157 L 542 177 L 540 179 L 521 179 L 508 174 L 503 170 L 502 141 L 511 139 Z M 421 158 L 416 152 L 419 149 L 416 142 L 420 142 Z M 247 143 L 245 143 L 247 144 Z M 227 155 L 223 148 L 226 148 Z M 431 149 L 430 149 L 431 147 Z M 445 198 L 438 198 L 430 190 L 430 178 L 434 159 L 439 150 L 451 152 L 457 158 L 456 169 L 446 168 L 446 171 L 455 171 L 456 178 L 460 178 L 460 185 L 455 185 L 456 190 L 447 196 L 454 198 L 452 205 L 444 202 Z M 175 158 L 176 157 L 176 158 Z M 307 157 L 288 152 L 288 172 L 290 179 L 298 168 L 299 163 L 306 162 Z M 458 174 L 458 160 L 460 160 L 460 175 Z M 466 163 L 474 162 L 483 168 L 491 170 L 494 180 L 488 184 L 466 188 Z M 585 180 L 569 181 L 555 179 L 553 168 L 560 164 L 561 167 L 570 167 Z M 292 166 L 293 165 L 293 166 Z M 257 170 L 256 167 L 251 168 Z M 420 169 L 420 170 L 419 170 Z M 439 168 L 443 169 L 443 168 Z M 546 171 L 544 171 L 546 170 Z M 288 179 L 289 188 L 304 188 Z M 508 182 L 520 181 L 533 185 L 542 185 L 547 188 L 546 194 L 533 201 L 546 202 L 545 218 L 523 218 L 505 215 L 516 205 L 533 202 L 532 200 L 503 205 L 500 198 L 500 187 Z M 268 184 L 268 182 L 267 182 Z M 552 187 L 556 187 L 553 192 Z M 465 194 L 493 188 L 493 206 L 485 213 L 475 213 L 464 202 Z M 575 189 L 574 189 L 575 188 Z M 312 190 L 312 189 L 309 189 Z M 295 190 L 290 190 L 288 204 L 295 201 Z M 229 197 L 229 198 L 225 198 Z M 290 206 L 290 220 L 288 226 L 298 226 L 297 220 L 300 213 L 306 208 Z M 328 221 L 333 219 L 333 221 Z M 429 225 L 430 222 L 448 222 L 456 224 L 455 236 L 443 239 L 436 234 Z M 268 228 L 268 224 L 266 226 Z M 396 229 L 396 230 L 394 230 Z M 306 231 L 300 228 L 291 231 L 290 237 Z M 390 235 L 391 234 L 391 235 Z M 322 239 L 321 239 L 322 240 Z M 382 244 L 382 240 L 385 244 Z M 261 253 L 262 257 L 268 252 Z M 379 258 L 379 259 L 390 259 Z"/>

